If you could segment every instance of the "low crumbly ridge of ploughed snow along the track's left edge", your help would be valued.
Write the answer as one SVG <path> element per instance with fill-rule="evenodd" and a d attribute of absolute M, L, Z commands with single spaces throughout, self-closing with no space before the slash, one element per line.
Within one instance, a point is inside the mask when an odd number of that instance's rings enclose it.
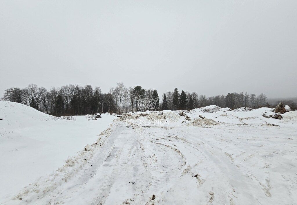
<path fill-rule="evenodd" d="M 22 200 L 26 202 L 32 201 L 36 197 L 40 197 L 47 192 L 54 190 L 62 183 L 67 182 L 68 179 L 72 178 L 96 153 L 96 148 L 101 147 L 106 139 L 111 135 L 113 126 L 110 125 L 108 129 L 99 134 L 97 142 L 94 144 L 86 145 L 83 151 L 78 152 L 77 155 L 69 157 L 65 162 L 64 166 L 57 169 L 50 175 L 40 177 L 40 179 L 34 184 L 29 184 L 13 199 Z"/>

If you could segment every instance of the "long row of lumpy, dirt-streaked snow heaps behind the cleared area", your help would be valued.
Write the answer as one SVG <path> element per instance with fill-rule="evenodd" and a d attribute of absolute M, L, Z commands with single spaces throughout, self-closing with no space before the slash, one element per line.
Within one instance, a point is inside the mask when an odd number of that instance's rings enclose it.
<path fill-rule="evenodd" d="M 123 116 L 119 117 L 118 120 L 122 122 L 128 122 L 131 125 L 153 125 L 157 124 L 156 122 L 159 122 L 160 124 L 166 122 L 170 125 L 195 125 L 195 126 L 201 126 L 201 125 L 212 125 L 212 124 L 237 124 L 237 125 L 263 125 L 263 124 L 279 124 L 280 126 L 292 126 L 292 123 L 294 122 L 294 119 L 292 116 L 289 118 L 284 118 L 284 120 L 279 121 L 277 119 L 274 119 L 272 117 L 269 117 L 269 115 L 274 115 L 275 113 L 271 111 L 271 108 L 258 108 L 258 109 L 252 109 L 252 108 L 238 108 L 231 110 L 230 108 L 220 108 L 215 105 L 206 106 L 202 108 L 196 108 L 191 110 L 190 112 L 184 112 L 185 116 L 181 117 L 179 115 L 181 111 L 180 110 L 165 110 L 162 112 L 135 112 L 135 113 L 126 113 Z M 293 111 L 291 111 L 293 112 Z M 290 113 L 290 112 L 288 112 Z M 214 122 L 204 122 L 201 121 L 200 116 L 206 117 L 206 121 L 208 120 L 214 120 Z M 266 117 L 264 117 L 266 116 Z M 190 117 L 191 120 L 185 119 L 185 117 Z M 198 120 L 194 121 L 196 118 Z M 130 121 L 129 121 L 130 120 Z M 288 120 L 288 121 L 286 121 Z M 149 121 L 149 123 L 148 123 Z M 184 121 L 184 123 L 182 123 Z M 291 122 L 286 123 L 282 125 L 282 122 Z"/>

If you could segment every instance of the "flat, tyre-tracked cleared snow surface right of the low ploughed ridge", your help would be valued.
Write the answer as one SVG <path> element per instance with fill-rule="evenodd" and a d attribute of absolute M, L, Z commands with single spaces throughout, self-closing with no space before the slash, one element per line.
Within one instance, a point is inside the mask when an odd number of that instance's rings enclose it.
<path fill-rule="evenodd" d="M 67 183 L 11 204 L 296 204 L 296 140 L 280 127 L 117 122 Z"/>

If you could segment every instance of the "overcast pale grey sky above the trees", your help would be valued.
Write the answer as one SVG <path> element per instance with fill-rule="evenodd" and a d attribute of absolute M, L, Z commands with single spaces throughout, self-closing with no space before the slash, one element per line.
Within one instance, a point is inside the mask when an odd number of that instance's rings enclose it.
<path fill-rule="evenodd" d="M 30 83 L 297 97 L 297 1 L 0 1 L 0 96 Z"/>

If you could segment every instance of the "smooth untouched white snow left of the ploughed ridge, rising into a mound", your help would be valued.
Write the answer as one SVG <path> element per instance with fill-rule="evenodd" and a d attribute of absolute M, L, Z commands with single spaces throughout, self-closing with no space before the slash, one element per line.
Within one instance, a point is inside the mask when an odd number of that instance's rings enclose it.
<path fill-rule="evenodd" d="M 0 202 L 95 142 L 116 118 L 101 116 L 89 121 L 86 116 L 54 120 L 29 106 L 0 101 Z"/>

